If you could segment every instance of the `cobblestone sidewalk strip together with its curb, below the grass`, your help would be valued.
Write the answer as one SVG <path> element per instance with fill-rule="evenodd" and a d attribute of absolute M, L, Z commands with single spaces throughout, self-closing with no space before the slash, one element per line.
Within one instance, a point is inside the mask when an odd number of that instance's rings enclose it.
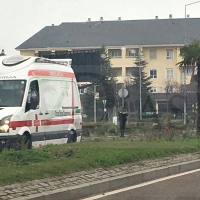
<path fill-rule="evenodd" d="M 200 168 L 199 158 L 199 153 L 189 153 L 12 184 L 0 187 L 0 200 L 70 200 L 84 198 L 125 187 L 128 184 L 138 184 L 141 181 Z M 139 176 L 141 174 L 142 176 Z"/>

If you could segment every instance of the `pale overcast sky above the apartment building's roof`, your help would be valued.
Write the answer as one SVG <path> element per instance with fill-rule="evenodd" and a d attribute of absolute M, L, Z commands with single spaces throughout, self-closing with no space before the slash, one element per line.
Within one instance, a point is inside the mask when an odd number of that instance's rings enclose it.
<path fill-rule="evenodd" d="M 45 26 L 62 22 L 184 18 L 185 5 L 195 0 L 0 0 L 0 50 L 19 54 L 17 46 Z M 199 3 L 187 6 L 191 18 L 200 17 Z"/>

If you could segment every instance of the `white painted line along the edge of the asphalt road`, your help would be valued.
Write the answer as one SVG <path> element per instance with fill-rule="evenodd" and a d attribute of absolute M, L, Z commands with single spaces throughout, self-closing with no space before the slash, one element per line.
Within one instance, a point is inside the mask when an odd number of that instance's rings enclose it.
<path fill-rule="evenodd" d="M 199 172 L 199 171 L 200 171 L 200 169 L 196 169 L 196 170 L 184 172 L 184 173 L 181 173 L 181 174 L 167 176 L 165 178 L 160 178 L 160 179 L 156 179 L 156 180 L 149 181 L 149 182 L 146 182 L 146 183 L 141 183 L 141 184 L 138 184 L 138 185 L 130 186 L 130 187 L 127 187 L 127 188 L 114 190 L 114 191 L 111 191 L 111 192 L 107 192 L 105 194 L 99 194 L 99 195 L 96 195 L 96 196 L 93 196 L 93 197 L 88 197 L 88 198 L 85 198 L 85 199 L 82 199 L 82 200 L 100 199 L 102 197 L 106 197 L 106 196 L 109 196 L 109 195 L 113 195 L 113 194 L 117 194 L 117 193 L 120 193 L 120 192 L 132 190 L 132 189 L 135 189 L 135 188 L 140 188 L 140 187 L 143 187 L 143 186 L 146 186 L 146 185 L 151 185 L 151 184 L 154 184 L 154 183 L 158 183 L 158 182 L 165 181 L 165 180 L 168 180 L 168 179 L 176 178 L 176 177 L 179 177 L 179 176 L 184 176 L 184 175 L 187 175 L 187 174 L 192 174 L 192 173 Z"/>

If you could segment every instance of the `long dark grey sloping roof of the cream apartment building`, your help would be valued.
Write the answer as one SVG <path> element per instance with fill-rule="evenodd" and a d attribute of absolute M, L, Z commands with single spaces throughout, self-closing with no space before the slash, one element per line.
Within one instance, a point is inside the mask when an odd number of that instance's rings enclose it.
<path fill-rule="evenodd" d="M 185 31 L 186 30 L 186 31 Z M 16 47 L 73 48 L 126 45 L 183 45 L 200 39 L 200 18 L 65 22 L 46 26 Z"/>

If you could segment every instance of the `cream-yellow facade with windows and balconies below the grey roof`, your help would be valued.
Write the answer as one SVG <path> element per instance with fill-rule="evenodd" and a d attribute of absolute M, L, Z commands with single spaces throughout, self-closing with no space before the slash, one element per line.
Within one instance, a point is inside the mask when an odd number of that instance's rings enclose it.
<path fill-rule="evenodd" d="M 135 67 L 135 60 L 141 56 L 147 62 L 145 72 L 152 79 L 152 92 L 165 92 L 166 82 L 182 84 L 183 73 L 176 65 L 181 61 L 178 46 L 124 46 L 112 49 L 108 48 L 111 56 L 113 70 L 118 75 L 118 80 L 124 82 L 131 76 L 132 67 Z M 140 53 L 139 53 L 140 51 Z M 140 54 L 140 55 L 139 55 Z M 192 70 L 187 70 L 187 82 L 190 81 Z"/>

